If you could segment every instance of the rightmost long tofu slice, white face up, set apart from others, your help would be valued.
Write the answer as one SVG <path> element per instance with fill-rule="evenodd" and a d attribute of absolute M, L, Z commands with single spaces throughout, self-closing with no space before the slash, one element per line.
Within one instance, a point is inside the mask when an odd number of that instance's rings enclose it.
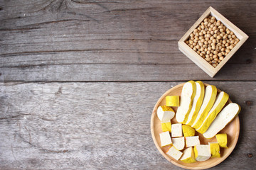
<path fill-rule="evenodd" d="M 203 133 L 203 137 L 212 138 L 220 130 L 223 130 L 228 123 L 230 123 L 238 113 L 240 113 L 241 108 L 237 103 L 230 103 L 228 106 L 225 106 L 222 111 L 217 115 L 213 123 L 210 124 L 210 127 L 206 132 Z"/>

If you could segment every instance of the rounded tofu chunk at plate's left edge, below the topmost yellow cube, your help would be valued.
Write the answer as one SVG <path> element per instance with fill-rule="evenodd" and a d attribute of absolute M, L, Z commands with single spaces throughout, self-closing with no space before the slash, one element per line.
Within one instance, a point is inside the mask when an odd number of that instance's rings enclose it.
<path fill-rule="evenodd" d="M 175 115 L 174 110 L 169 106 L 159 106 L 156 114 L 161 123 L 169 122 Z"/>

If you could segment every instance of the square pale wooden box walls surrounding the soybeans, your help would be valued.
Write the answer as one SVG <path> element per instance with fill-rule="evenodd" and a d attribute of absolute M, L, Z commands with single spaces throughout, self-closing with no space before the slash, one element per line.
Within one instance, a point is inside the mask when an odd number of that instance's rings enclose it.
<path fill-rule="evenodd" d="M 201 22 L 204 20 L 204 18 L 208 17 L 209 15 L 214 16 L 217 20 L 220 20 L 223 25 L 233 31 L 237 38 L 240 40 L 235 47 L 228 53 L 226 57 L 218 64 L 217 67 L 213 67 L 210 65 L 206 60 L 203 59 L 200 55 L 198 55 L 191 47 L 186 45 L 186 40 L 188 40 L 188 37 L 191 33 L 193 33 L 193 30 L 195 30 Z M 186 55 L 190 60 L 192 60 L 194 63 L 198 65 L 201 69 L 203 69 L 204 72 L 206 72 L 210 77 L 214 77 L 215 74 L 224 66 L 228 60 L 235 54 L 235 52 L 241 47 L 241 45 L 247 40 L 248 36 L 242 32 L 238 27 L 236 27 L 233 23 L 228 21 L 227 18 L 225 18 L 223 15 L 218 13 L 213 7 L 209 7 L 203 15 L 196 21 L 196 23 L 193 24 L 193 26 L 186 32 L 185 35 L 181 38 L 181 40 L 178 41 L 178 49 L 183 52 L 184 55 Z"/>

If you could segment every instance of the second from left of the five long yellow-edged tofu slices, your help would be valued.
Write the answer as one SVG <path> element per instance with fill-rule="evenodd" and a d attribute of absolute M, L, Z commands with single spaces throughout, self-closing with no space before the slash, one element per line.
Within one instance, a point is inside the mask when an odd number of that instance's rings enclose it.
<path fill-rule="evenodd" d="M 205 87 L 202 81 L 196 81 L 196 96 L 193 98 L 192 108 L 190 113 L 188 113 L 188 120 L 186 121 L 186 125 L 192 125 L 196 120 L 196 116 L 198 115 L 198 111 L 201 108 L 203 103 L 203 97 L 205 94 Z"/>

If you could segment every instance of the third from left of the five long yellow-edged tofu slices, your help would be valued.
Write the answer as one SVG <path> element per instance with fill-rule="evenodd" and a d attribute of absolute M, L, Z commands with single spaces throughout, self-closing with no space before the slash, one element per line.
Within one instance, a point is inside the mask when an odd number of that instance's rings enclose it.
<path fill-rule="evenodd" d="M 213 103 L 215 101 L 215 98 L 217 96 L 217 88 L 216 86 L 209 85 L 206 86 L 206 93 L 203 98 L 202 106 L 198 112 L 198 115 L 196 117 L 195 122 L 193 123 L 192 127 L 195 129 L 200 128 L 200 126 L 203 123 L 203 120 L 208 115 L 208 112 L 210 111 L 210 108 L 213 107 Z"/>

